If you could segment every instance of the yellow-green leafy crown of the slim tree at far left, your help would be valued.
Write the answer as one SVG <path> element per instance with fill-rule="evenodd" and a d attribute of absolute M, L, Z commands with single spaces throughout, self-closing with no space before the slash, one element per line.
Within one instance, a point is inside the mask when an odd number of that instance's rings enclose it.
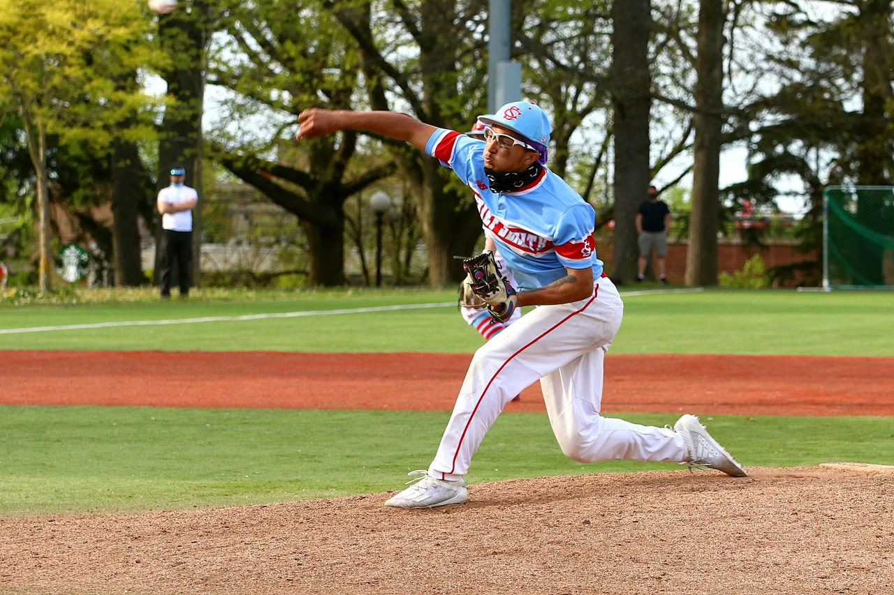
<path fill-rule="evenodd" d="M 83 150 L 109 147 L 117 137 L 114 124 L 150 103 L 116 82 L 153 63 L 139 43 L 147 28 L 136 3 L 3 0 L 3 96 L 73 147 L 79 141 L 88 143 Z"/>

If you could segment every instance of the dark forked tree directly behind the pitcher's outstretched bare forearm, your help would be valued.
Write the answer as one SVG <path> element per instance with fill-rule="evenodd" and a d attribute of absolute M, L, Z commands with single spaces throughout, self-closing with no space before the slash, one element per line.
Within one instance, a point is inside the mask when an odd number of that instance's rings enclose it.
<path fill-rule="evenodd" d="M 292 21 L 305 27 L 297 29 Z M 299 217 L 309 245 L 309 285 L 342 285 L 344 203 L 395 166 L 354 132 L 300 147 L 292 135 L 302 109 L 350 109 L 362 95 L 358 54 L 342 26 L 316 2 L 234 8 L 222 25 L 226 37 L 209 63 L 209 83 L 228 90 L 228 110 L 210 134 L 215 159 Z M 264 122 L 264 134 L 243 127 L 247 121 Z"/>

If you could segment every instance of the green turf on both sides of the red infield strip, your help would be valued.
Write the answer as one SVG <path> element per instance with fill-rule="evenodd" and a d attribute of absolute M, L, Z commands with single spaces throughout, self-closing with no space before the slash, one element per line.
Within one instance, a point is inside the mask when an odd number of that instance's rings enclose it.
<path fill-rule="evenodd" d="M 470 352 L 481 341 L 460 320 L 452 291 L 196 293 L 164 304 L 148 291 L 91 292 L 75 304 L 0 300 L 0 358 L 4 349 Z M 884 292 L 622 294 L 625 321 L 612 353 L 894 355 L 894 298 Z M 350 312 L 408 305 L 434 306 Z M 152 324 L 159 321 L 167 322 Z M 428 465 L 448 415 L 0 406 L 0 515 L 218 507 L 397 490 L 405 473 Z M 894 464 L 894 423 L 887 417 L 703 422 L 744 465 Z M 674 466 L 581 465 L 561 455 L 545 415 L 509 413 L 488 434 L 468 481 Z"/>

